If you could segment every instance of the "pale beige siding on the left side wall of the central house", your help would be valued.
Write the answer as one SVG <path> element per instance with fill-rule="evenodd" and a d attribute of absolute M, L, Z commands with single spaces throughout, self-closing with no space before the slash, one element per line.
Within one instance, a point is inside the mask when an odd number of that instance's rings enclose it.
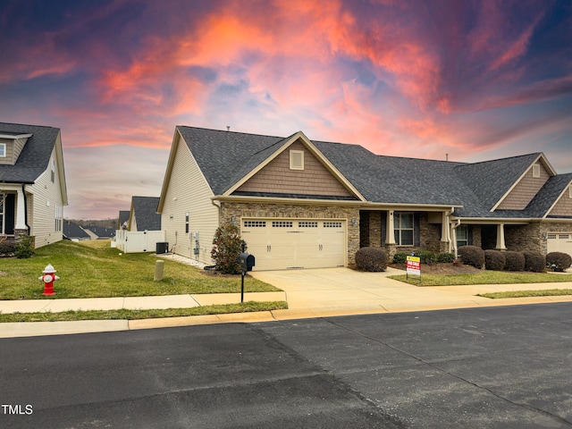
<path fill-rule="evenodd" d="M 165 231 L 165 241 L 169 250 L 184 257 L 195 259 L 194 240 L 185 233 L 185 214 L 189 213 L 189 233 L 198 231 L 198 261 L 211 264 L 214 231 L 218 227 L 218 208 L 213 205 L 213 192 L 198 168 L 197 161 L 190 153 L 182 138 L 172 163 L 171 179 L 164 194 L 161 224 Z"/>

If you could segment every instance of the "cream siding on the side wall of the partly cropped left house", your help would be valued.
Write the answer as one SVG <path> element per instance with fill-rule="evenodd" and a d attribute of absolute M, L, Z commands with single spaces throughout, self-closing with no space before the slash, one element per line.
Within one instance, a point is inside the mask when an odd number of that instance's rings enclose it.
<path fill-rule="evenodd" d="M 51 159 L 55 159 L 55 150 Z M 61 192 L 58 163 L 55 163 L 55 181 L 51 180 L 51 160 L 46 171 L 40 174 L 33 185 L 27 185 L 28 206 L 31 206 L 31 216 L 28 214 L 30 235 L 36 237 L 36 247 L 41 248 L 50 243 L 63 239 L 62 231 L 55 231 L 56 206 L 60 207 L 63 217 L 63 198 Z M 33 198 L 29 198 L 33 194 Z"/>

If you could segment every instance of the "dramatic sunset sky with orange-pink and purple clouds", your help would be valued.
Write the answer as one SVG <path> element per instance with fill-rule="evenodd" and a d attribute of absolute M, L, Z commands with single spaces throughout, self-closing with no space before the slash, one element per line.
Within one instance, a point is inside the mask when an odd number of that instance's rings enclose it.
<path fill-rule="evenodd" d="M 159 196 L 176 125 L 572 172 L 568 0 L 3 0 L 0 122 L 62 130 L 66 218 Z"/>

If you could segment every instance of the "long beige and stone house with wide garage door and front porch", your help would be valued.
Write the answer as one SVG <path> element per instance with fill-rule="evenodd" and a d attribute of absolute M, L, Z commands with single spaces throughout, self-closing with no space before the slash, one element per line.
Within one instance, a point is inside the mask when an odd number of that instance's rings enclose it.
<path fill-rule="evenodd" d="M 542 153 L 466 164 L 178 126 L 157 211 L 172 251 L 206 264 L 237 224 L 258 270 L 348 265 L 365 246 L 572 253 L 571 183 Z"/>

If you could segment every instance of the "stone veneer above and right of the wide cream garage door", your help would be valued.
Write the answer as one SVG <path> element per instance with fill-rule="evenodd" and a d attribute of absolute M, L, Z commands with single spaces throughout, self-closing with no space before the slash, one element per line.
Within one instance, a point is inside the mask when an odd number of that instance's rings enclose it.
<path fill-rule="evenodd" d="M 355 263 L 359 249 L 359 209 L 348 206 L 304 206 L 296 204 L 221 203 L 220 223 L 230 223 L 232 217 L 270 217 L 284 219 L 345 219 L 348 228 L 348 264 Z M 351 220 L 356 219 L 356 226 Z"/>

